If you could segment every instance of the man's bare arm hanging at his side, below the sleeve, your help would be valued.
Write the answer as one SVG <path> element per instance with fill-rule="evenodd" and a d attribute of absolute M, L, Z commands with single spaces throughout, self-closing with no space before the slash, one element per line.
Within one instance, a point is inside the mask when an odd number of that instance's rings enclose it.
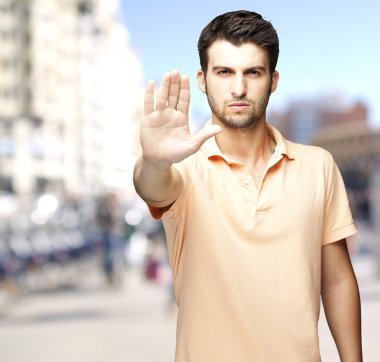
<path fill-rule="evenodd" d="M 346 240 L 322 246 L 321 295 L 342 362 L 361 362 L 360 295 Z"/>

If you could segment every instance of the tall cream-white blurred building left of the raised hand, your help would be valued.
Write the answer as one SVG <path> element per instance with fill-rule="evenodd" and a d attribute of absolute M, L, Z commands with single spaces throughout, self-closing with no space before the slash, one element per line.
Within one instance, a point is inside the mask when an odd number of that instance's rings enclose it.
<path fill-rule="evenodd" d="M 132 190 L 141 66 L 118 1 L 0 0 L 0 190 Z"/>

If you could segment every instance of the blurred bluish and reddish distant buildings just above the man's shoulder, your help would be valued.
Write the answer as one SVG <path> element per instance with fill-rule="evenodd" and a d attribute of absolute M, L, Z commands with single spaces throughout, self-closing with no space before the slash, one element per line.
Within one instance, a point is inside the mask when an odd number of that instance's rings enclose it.
<path fill-rule="evenodd" d="M 361 102 L 351 103 L 336 95 L 315 99 L 300 99 L 289 103 L 282 113 L 272 113 L 270 122 L 284 137 L 297 143 L 310 144 L 312 137 L 325 127 L 367 122 L 367 107 Z"/>

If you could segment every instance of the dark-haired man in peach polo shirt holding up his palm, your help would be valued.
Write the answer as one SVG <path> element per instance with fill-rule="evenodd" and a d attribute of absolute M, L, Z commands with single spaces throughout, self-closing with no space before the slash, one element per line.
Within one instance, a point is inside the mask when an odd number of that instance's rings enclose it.
<path fill-rule="evenodd" d="M 322 296 L 342 361 L 361 361 L 360 300 L 341 175 L 325 150 L 266 123 L 279 43 L 261 15 L 216 17 L 198 42 L 212 119 L 188 127 L 189 81 L 145 93 L 134 181 L 162 217 L 178 303 L 178 362 L 320 361 Z"/>

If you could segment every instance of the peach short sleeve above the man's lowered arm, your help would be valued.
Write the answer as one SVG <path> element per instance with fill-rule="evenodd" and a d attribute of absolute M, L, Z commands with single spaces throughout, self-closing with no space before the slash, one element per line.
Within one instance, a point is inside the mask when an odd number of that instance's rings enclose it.
<path fill-rule="evenodd" d="M 342 175 L 331 155 L 327 167 L 322 244 L 333 243 L 357 232 Z"/>

